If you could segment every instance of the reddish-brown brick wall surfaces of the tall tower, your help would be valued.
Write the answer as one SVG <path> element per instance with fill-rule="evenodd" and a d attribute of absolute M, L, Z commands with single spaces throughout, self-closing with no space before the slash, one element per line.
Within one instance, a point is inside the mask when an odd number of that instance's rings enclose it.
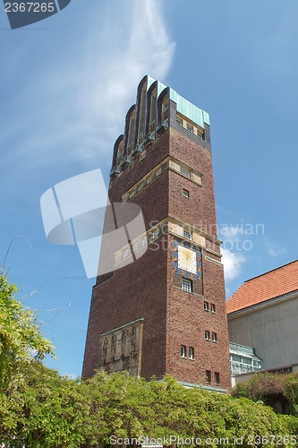
<path fill-rule="evenodd" d="M 176 127 L 176 126 L 175 126 Z M 197 142 L 198 141 L 198 142 Z M 209 144 L 209 143 L 208 143 Z M 179 173 L 166 170 L 140 191 L 130 202 L 143 212 L 146 228 L 169 214 L 178 220 L 202 228 L 217 237 L 211 153 L 208 144 L 188 137 L 187 131 L 170 128 L 134 159 L 110 185 L 111 202 L 121 196 L 169 154 L 199 170 L 202 185 Z M 183 188 L 190 192 L 183 197 Z M 127 203 L 130 203 L 127 202 Z M 107 225 L 107 223 L 105 224 Z M 206 370 L 220 374 L 220 387 L 230 386 L 230 366 L 226 323 L 226 297 L 223 266 L 216 254 L 201 249 L 202 292 L 192 294 L 175 287 L 173 270 L 174 237 L 166 234 L 149 245 L 139 260 L 114 272 L 98 277 L 93 288 L 86 340 L 83 375 L 90 376 L 98 365 L 98 340 L 108 332 L 136 319 L 144 318 L 141 375 L 161 377 L 165 373 L 186 383 L 205 384 Z M 208 248 L 219 253 L 217 242 Z M 216 314 L 204 311 L 204 300 L 216 305 Z M 217 343 L 205 341 L 205 330 L 217 332 Z M 181 345 L 193 347 L 195 359 L 183 359 Z"/>

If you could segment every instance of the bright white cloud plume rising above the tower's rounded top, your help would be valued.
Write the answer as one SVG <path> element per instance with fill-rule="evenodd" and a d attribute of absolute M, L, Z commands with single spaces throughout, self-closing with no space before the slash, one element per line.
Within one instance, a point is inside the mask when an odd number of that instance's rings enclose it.
<path fill-rule="evenodd" d="M 104 144 L 114 142 L 123 132 L 124 117 L 135 101 L 140 79 L 149 74 L 163 81 L 175 50 L 158 0 L 126 2 L 124 11 L 126 15 L 131 11 L 128 23 L 123 20 L 119 28 L 111 28 L 115 14 L 111 11 L 98 41 L 92 39 L 81 91 L 81 110 L 91 126 L 90 132 L 97 133 L 99 128 L 98 139 Z M 126 35 L 128 39 L 123 39 Z M 111 54 L 106 49 L 98 57 L 103 39 L 109 47 L 112 42 L 114 50 Z M 118 42 L 116 47 L 113 41 Z"/>

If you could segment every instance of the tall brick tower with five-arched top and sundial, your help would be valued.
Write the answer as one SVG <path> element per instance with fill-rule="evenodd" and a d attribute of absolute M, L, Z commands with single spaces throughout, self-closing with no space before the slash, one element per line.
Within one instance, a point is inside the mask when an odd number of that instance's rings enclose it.
<path fill-rule="evenodd" d="M 115 142 L 110 176 L 109 201 L 119 213 L 106 211 L 83 376 L 95 368 L 146 379 L 170 374 L 183 384 L 226 390 L 226 295 L 209 115 L 145 76 Z M 132 235 L 137 210 L 144 228 Z M 126 228 L 126 242 L 105 243 L 111 228 Z"/>

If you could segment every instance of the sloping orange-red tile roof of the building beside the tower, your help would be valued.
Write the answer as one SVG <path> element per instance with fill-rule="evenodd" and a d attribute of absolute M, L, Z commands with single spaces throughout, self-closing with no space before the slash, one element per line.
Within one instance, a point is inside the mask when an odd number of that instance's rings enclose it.
<path fill-rule="evenodd" d="M 298 260 L 246 280 L 226 302 L 226 312 L 257 305 L 298 289 Z"/>

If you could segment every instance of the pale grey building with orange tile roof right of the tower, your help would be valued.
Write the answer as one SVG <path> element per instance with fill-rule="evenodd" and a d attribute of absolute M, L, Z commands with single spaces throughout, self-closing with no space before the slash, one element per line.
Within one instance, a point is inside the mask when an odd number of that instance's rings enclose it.
<path fill-rule="evenodd" d="M 298 364 L 298 260 L 244 281 L 226 307 L 232 343 L 254 348 L 263 369 L 294 370 Z"/>

